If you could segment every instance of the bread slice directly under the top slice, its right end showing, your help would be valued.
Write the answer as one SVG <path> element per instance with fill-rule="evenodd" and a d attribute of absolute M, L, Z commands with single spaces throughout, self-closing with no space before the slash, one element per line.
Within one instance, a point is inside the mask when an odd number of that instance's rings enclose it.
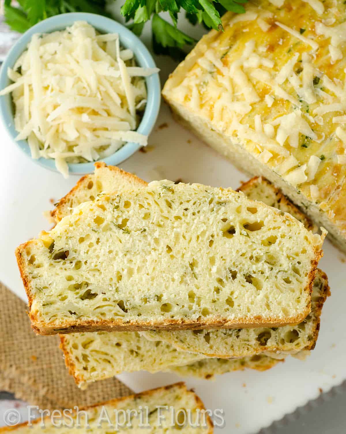
<path fill-rule="evenodd" d="M 193 352 L 204 357 L 247 357 L 264 353 L 270 357 L 310 351 L 315 348 L 320 330 L 323 303 L 329 295 L 328 279 L 318 270 L 313 283 L 312 309 L 298 325 L 274 328 L 181 330 L 143 332 L 147 339 L 164 341 L 180 351 Z"/>

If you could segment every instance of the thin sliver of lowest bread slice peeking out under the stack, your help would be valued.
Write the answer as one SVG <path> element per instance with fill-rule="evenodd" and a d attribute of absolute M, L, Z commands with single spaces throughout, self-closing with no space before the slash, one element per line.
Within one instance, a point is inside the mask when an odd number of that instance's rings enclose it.
<path fill-rule="evenodd" d="M 267 371 L 273 368 L 284 360 L 278 360 L 268 357 L 263 354 L 236 358 L 229 360 L 227 358 L 204 358 L 198 362 L 191 363 L 185 366 L 175 366 L 170 368 L 171 372 L 175 372 L 181 377 L 203 378 L 204 380 L 212 380 L 215 375 L 226 374 L 233 371 L 244 371 L 245 368 L 254 369 L 256 371 Z"/>

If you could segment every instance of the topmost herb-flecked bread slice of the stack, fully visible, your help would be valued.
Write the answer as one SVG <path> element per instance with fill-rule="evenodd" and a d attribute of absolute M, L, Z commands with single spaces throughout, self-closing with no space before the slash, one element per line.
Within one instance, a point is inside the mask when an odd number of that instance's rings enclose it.
<path fill-rule="evenodd" d="M 34 329 L 300 322 L 323 237 L 241 192 L 154 181 L 101 194 L 16 250 Z"/>

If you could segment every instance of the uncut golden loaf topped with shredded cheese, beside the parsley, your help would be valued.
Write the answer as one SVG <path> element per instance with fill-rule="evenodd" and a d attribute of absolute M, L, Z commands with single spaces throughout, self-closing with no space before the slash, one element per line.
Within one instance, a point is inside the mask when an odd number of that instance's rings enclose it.
<path fill-rule="evenodd" d="M 280 187 L 346 252 L 346 4 L 244 7 L 198 42 L 162 94 L 183 125 Z"/>

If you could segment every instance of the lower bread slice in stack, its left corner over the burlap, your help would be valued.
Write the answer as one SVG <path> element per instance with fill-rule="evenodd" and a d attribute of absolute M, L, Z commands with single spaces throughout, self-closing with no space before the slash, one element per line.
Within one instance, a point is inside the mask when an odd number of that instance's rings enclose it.
<path fill-rule="evenodd" d="M 60 340 L 69 374 L 82 389 L 121 372 L 167 371 L 204 358 L 167 342 L 149 341 L 138 332 L 69 333 Z"/>

